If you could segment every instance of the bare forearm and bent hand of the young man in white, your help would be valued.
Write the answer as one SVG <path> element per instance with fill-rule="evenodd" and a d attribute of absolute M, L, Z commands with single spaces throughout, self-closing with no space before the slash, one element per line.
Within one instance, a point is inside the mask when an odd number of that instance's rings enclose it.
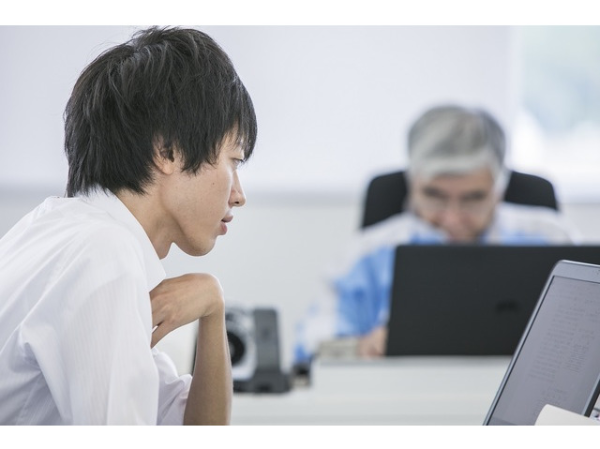
<path fill-rule="evenodd" d="M 166 279 L 150 293 L 154 346 L 172 330 L 199 320 L 196 363 L 184 424 L 229 424 L 233 382 L 219 281 L 208 274 Z"/>

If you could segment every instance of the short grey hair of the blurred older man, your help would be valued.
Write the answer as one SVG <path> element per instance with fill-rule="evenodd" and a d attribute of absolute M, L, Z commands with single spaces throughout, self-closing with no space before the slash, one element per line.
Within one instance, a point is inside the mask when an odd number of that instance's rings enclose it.
<path fill-rule="evenodd" d="M 489 168 L 497 189 L 505 187 L 504 131 L 488 112 L 455 105 L 426 111 L 408 134 L 409 169 L 415 176 L 461 175 Z"/>

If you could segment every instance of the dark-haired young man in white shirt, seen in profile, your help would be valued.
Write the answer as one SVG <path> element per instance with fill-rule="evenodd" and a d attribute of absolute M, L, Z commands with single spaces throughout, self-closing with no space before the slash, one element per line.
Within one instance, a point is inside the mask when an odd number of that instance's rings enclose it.
<path fill-rule="evenodd" d="M 226 424 L 223 292 L 165 279 L 172 244 L 208 253 L 245 196 L 256 117 L 223 50 L 151 28 L 94 60 L 65 111 L 67 198 L 0 240 L 0 423 Z M 193 376 L 154 345 L 199 320 Z"/>

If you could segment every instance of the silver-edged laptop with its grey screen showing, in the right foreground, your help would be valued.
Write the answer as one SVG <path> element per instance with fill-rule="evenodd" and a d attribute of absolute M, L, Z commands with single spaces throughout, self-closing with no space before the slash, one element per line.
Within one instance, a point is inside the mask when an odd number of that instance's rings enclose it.
<path fill-rule="evenodd" d="M 532 425 L 547 405 L 590 416 L 600 392 L 600 266 L 550 273 L 485 425 Z"/>

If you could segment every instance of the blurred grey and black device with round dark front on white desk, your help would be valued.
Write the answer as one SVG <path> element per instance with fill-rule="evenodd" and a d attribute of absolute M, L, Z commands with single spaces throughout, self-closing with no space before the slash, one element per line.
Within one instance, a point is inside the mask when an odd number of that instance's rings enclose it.
<path fill-rule="evenodd" d="M 234 391 L 289 391 L 289 376 L 281 370 L 277 311 L 227 307 L 225 324 Z"/>

